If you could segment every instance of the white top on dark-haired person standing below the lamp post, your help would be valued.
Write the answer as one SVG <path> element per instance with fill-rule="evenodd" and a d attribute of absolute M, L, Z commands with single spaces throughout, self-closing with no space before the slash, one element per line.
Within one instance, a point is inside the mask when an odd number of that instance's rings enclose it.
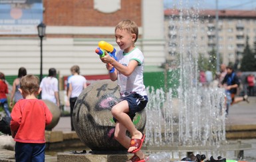
<path fill-rule="evenodd" d="M 40 83 L 42 89 L 41 97 L 57 104 L 55 92 L 59 91 L 58 79 L 55 77 L 44 77 Z"/>

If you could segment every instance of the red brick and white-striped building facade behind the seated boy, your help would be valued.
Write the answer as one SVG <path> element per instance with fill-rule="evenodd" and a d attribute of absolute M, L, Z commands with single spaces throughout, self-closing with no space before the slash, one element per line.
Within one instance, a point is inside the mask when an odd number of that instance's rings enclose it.
<path fill-rule="evenodd" d="M 145 65 L 165 61 L 163 1 L 154 0 L 44 0 L 43 74 L 51 67 L 61 77 L 70 75 L 72 65 L 82 75 L 107 74 L 95 54 L 100 40 L 116 46 L 114 28 L 120 20 L 131 19 L 139 26 L 136 46 L 145 56 Z M 152 12 L 154 11 L 154 12 Z M 35 75 L 40 71 L 40 39 L 37 34 L 0 35 L 0 71 L 17 75 L 19 67 Z"/>

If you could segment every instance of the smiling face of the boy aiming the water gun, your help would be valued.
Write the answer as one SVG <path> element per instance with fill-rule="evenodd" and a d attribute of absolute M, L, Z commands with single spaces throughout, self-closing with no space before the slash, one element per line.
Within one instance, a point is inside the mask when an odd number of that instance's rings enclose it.
<path fill-rule="evenodd" d="M 116 33 L 116 44 L 125 53 L 130 52 L 134 48 L 134 40 L 136 39 L 136 34 L 131 34 L 127 30 L 117 29 Z"/>

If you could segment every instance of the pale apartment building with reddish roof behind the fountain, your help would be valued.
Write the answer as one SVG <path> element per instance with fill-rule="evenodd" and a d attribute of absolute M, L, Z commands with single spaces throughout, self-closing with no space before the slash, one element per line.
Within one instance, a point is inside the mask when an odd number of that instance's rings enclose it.
<path fill-rule="evenodd" d="M 205 57 L 215 48 L 223 63 L 235 63 L 242 58 L 247 36 L 251 48 L 256 42 L 256 11 L 221 10 L 217 23 L 215 10 L 167 9 L 164 15 L 169 60 L 183 47 L 196 47 Z"/>

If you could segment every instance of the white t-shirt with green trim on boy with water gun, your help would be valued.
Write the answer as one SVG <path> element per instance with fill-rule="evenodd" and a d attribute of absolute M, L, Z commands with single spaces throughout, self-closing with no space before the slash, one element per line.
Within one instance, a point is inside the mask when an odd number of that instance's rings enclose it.
<path fill-rule="evenodd" d="M 143 69 L 144 69 L 144 56 L 138 48 L 134 48 L 128 54 L 124 54 L 123 50 L 120 50 L 116 54 L 116 58 L 122 65 L 128 66 L 131 60 L 138 61 L 138 66 L 134 69 L 132 74 L 128 77 L 119 73 L 118 71 L 118 85 L 120 86 L 120 95 L 126 97 L 130 93 L 138 93 L 142 96 L 147 95 L 145 85 L 143 83 Z"/>

